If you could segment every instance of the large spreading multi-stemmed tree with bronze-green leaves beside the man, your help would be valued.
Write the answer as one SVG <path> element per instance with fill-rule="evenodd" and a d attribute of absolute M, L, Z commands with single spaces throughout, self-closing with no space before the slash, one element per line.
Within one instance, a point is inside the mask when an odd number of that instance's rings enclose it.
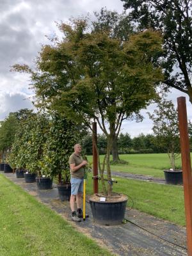
<path fill-rule="evenodd" d="M 57 109 L 88 127 L 90 120 L 97 121 L 107 138 L 100 176 L 105 191 L 106 163 L 111 195 L 109 156 L 113 139 L 123 120 L 137 115 L 156 97 L 155 85 L 163 78 L 156 66 L 161 37 L 144 31 L 122 44 L 122 40 L 110 37 L 110 31 L 86 28 L 85 20 L 61 23 L 65 38 L 42 48 L 36 71 L 25 65 L 15 65 L 15 69 L 31 73 L 38 106 Z"/>

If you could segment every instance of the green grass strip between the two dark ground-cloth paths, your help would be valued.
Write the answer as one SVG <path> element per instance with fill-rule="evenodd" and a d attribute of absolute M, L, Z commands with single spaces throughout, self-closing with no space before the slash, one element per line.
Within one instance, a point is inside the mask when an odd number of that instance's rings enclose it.
<path fill-rule="evenodd" d="M 87 193 L 93 193 L 92 175 L 89 175 Z M 152 214 L 158 218 L 186 225 L 184 215 L 184 195 L 182 186 L 156 184 L 132 179 L 120 179 L 113 185 L 113 191 L 131 196 L 133 208 Z M 99 191 L 102 191 L 99 181 Z M 131 200 L 128 206 L 132 206 Z"/>

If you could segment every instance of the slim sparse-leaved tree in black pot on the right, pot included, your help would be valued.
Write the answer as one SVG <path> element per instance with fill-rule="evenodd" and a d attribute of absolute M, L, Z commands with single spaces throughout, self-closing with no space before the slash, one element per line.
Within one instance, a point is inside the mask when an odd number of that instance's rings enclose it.
<path fill-rule="evenodd" d="M 175 167 L 175 159 L 180 156 L 178 113 L 171 100 L 162 99 L 154 114 L 148 113 L 154 122 L 152 128 L 156 135 L 155 143 L 166 148 L 170 159 L 170 168 L 164 170 L 168 184 L 182 184 L 182 170 Z"/>

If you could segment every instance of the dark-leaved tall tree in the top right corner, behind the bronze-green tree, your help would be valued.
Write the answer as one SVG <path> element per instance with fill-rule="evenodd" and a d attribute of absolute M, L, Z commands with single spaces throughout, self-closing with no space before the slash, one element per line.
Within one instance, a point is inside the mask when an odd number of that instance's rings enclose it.
<path fill-rule="evenodd" d="M 122 0 L 138 29 L 161 31 L 164 84 L 189 95 L 192 104 L 192 3 L 182 0 Z"/>

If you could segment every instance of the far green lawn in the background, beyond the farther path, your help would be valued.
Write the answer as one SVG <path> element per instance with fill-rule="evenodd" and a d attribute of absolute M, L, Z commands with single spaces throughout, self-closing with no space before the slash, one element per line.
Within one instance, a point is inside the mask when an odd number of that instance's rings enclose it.
<path fill-rule="evenodd" d="M 104 156 L 100 156 L 102 161 Z M 126 160 L 128 164 L 111 164 L 111 170 L 115 172 L 127 172 L 152 177 L 164 177 L 164 169 L 170 168 L 167 154 L 125 154 L 120 155 L 120 159 Z M 92 156 L 88 156 L 92 162 Z M 181 166 L 180 157 L 175 161 L 176 166 Z"/>

